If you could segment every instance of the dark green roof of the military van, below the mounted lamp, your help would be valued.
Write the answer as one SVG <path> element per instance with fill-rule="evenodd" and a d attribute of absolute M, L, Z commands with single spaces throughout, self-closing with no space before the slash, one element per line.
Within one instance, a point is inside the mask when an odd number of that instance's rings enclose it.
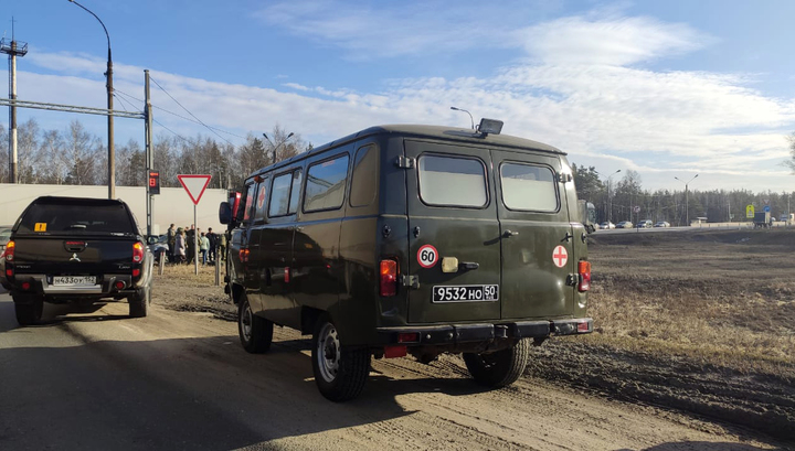
<path fill-rule="evenodd" d="M 347 142 L 356 141 L 361 138 L 371 135 L 400 135 L 403 137 L 411 138 L 432 138 L 437 140 L 455 141 L 455 142 L 470 142 L 477 144 L 487 143 L 488 146 L 496 146 L 501 148 L 511 148 L 517 150 L 534 150 L 542 152 L 556 153 L 565 155 L 565 152 L 558 148 L 554 148 L 543 142 L 533 141 L 530 139 L 513 137 L 509 135 L 481 135 L 469 128 L 456 128 L 456 127 L 442 127 L 442 126 L 420 126 L 420 125 L 384 125 L 374 126 L 364 130 L 357 131 L 356 133 L 348 135 L 347 137 L 336 139 L 331 142 L 327 142 L 320 147 L 316 147 L 309 152 L 299 153 L 287 160 L 279 161 L 278 163 L 272 164 L 266 168 L 258 169 L 254 174 L 271 171 L 292 164 L 296 161 L 303 160 L 310 155 L 324 152 L 330 148 L 344 144 Z M 252 174 L 253 175 L 253 174 Z"/>

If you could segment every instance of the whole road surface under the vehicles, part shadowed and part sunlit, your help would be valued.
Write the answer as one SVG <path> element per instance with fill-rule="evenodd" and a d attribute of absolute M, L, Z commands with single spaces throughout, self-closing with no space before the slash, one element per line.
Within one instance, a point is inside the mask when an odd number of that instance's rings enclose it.
<path fill-rule="evenodd" d="M 727 427 L 526 377 L 504 390 L 460 359 L 378 361 L 362 396 L 316 387 L 309 342 L 277 329 L 250 355 L 202 313 L 46 305 L 19 327 L 0 294 L 0 450 L 768 449 Z"/>

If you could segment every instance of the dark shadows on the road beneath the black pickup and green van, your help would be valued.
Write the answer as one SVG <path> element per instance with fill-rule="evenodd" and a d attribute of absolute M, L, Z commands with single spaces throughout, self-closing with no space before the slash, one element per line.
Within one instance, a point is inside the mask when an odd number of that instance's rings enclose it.
<path fill-rule="evenodd" d="M 264 355 L 245 353 L 236 336 L 3 345 L 6 331 L 31 342 L 44 333 L 61 336 L 51 324 L 132 333 L 85 323 L 89 319 L 107 316 L 55 314 L 50 324 L 17 329 L 13 304 L 0 303 L 0 399 L 2 411 L 13 412 L 0 415 L 0 449 L 267 448 L 282 438 L 412 415 L 396 399 L 402 394 L 483 391 L 468 379 L 396 380 L 371 373 L 359 399 L 333 404 L 315 386 L 307 340 L 275 342 Z M 150 320 L 156 318 L 139 324 Z"/>

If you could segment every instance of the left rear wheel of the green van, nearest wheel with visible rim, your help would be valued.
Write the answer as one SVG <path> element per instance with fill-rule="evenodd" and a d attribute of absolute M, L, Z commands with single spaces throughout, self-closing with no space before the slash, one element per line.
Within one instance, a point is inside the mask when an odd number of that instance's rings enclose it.
<path fill-rule="evenodd" d="M 327 399 L 342 402 L 361 394 L 370 374 L 370 350 L 342 346 L 328 314 L 315 324 L 311 358 L 315 383 Z"/>

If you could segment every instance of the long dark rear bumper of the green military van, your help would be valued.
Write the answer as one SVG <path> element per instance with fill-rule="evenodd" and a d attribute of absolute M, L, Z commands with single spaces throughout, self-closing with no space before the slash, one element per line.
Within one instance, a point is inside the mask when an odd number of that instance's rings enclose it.
<path fill-rule="evenodd" d="M 593 319 L 517 321 L 508 323 L 445 324 L 379 327 L 379 344 L 444 345 L 501 339 L 542 339 L 593 332 Z M 412 341 L 406 341 L 412 339 Z M 417 340 L 418 339 L 418 340 Z"/>

